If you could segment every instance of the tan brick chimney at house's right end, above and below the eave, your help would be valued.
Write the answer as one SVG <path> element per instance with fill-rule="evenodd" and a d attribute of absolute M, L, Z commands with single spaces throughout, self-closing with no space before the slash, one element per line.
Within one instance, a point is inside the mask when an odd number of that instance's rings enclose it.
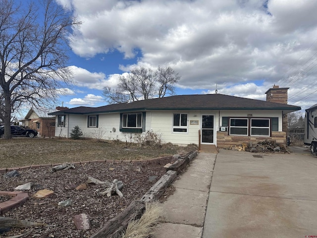
<path fill-rule="evenodd" d="M 280 88 L 278 85 L 275 85 L 268 89 L 265 94 L 266 94 L 266 101 L 267 102 L 272 102 L 272 103 L 283 103 L 287 104 L 287 90 L 289 88 Z M 286 132 L 288 131 L 287 128 L 287 114 L 283 114 L 283 131 Z"/>

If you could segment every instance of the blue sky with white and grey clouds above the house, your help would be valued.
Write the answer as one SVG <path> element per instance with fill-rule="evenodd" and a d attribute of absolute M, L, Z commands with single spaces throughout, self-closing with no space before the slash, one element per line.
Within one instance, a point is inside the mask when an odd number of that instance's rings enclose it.
<path fill-rule="evenodd" d="M 265 100 L 274 84 L 288 104 L 317 104 L 316 0 L 56 0 L 82 22 L 60 105 L 106 105 L 130 68 L 171 66 L 176 94 Z"/>

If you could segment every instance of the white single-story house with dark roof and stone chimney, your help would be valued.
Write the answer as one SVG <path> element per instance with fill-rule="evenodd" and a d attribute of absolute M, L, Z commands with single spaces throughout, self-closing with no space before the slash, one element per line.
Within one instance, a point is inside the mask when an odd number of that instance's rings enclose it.
<path fill-rule="evenodd" d="M 70 137 L 78 125 L 84 137 L 122 140 L 154 131 L 164 143 L 215 145 L 228 148 L 242 142 L 274 140 L 286 145 L 287 114 L 301 110 L 287 104 L 288 88 L 274 86 L 266 101 L 223 94 L 177 95 L 103 107 L 56 111 L 55 136 Z"/>

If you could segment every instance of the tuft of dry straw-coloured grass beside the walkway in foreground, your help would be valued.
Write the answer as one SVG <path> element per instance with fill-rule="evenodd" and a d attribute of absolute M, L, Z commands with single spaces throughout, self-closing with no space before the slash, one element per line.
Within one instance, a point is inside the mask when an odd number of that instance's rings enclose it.
<path fill-rule="evenodd" d="M 145 213 L 137 221 L 129 223 L 122 238 L 147 238 L 153 232 L 152 228 L 164 220 L 163 209 L 159 203 L 147 203 Z"/>

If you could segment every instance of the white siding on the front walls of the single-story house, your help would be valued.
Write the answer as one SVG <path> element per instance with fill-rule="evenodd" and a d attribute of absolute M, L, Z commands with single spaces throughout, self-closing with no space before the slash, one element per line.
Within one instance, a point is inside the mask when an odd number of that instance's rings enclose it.
<path fill-rule="evenodd" d="M 187 132 L 173 132 L 173 114 L 187 114 Z M 146 131 L 153 130 L 161 134 L 163 143 L 173 144 L 199 144 L 199 130 L 202 128 L 202 115 L 212 115 L 214 119 L 214 143 L 216 144 L 216 131 L 222 125 L 222 117 L 276 117 L 279 118 L 278 128 L 282 131 L 282 112 L 281 111 L 152 111 L 146 112 Z M 91 115 L 93 116 L 93 115 Z M 191 120 L 198 120 L 198 124 L 190 124 Z M 136 133 L 123 133 L 119 131 L 120 113 L 100 114 L 98 128 L 88 127 L 87 115 L 66 115 L 65 127 L 57 126 L 58 116 L 56 116 L 55 136 L 70 137 L 71 130 L 78 125 L 83 136 L 94 138 L 95 130 L 103 130 L 103 139 L 125 141 L 133 137 Z M 127 138 L 126 138 L 127 137 Z"/>

